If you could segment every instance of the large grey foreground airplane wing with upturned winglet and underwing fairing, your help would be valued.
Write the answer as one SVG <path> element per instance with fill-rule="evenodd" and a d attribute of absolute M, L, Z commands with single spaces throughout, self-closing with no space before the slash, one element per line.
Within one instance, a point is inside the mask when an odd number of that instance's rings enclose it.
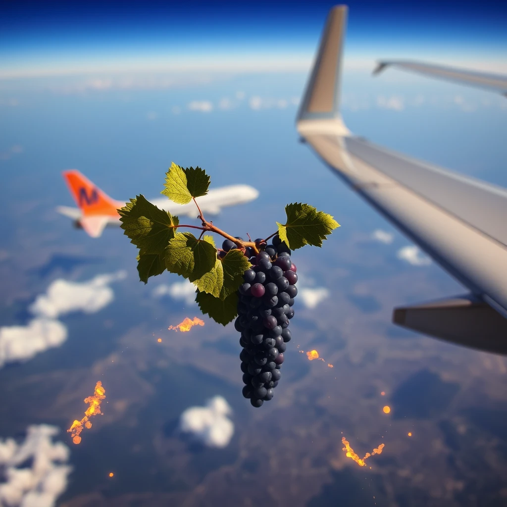
<path fill-rule="evenodd" d="M 507 191 L 385 150 L 347 129 L 339 111 L 346 19 L 346 6 L 330 11 L 298 113 L 298 132 L 346 184 L 469 291 L 397 308 L 393 321 L 507 354 Z"/>

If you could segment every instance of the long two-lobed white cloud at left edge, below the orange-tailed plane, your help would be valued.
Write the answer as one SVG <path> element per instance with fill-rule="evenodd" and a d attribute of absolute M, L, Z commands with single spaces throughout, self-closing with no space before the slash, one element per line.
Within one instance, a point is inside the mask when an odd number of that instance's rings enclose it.
<path fill-rule="evenodd" d="M 12 361 L 27 360 L 48 348 L 59 347 L 67 339 L 67 328 L 57 320 L 73 311 L 95 313 L 110 304 L 115 295 L 108 286 L 125 278 L 125 271 L 98 275 L 86 282 L 58 279 L 41 294 L 29 311 L 35 315 L 26 325 L 0 327 L 0 367 Z"/>

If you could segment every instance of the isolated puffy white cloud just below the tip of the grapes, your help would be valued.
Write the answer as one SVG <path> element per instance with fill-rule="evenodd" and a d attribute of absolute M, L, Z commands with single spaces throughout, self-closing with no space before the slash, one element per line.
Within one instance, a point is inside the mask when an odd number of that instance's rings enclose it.
<path fill-rule="evenodd" d="M 226 447 L 234 433 L 227 417 L 231 407 L 222 396 L 214 396 L 204 407 L 190 407 L 179 418 L 179 429 L 208 447 Z"/>

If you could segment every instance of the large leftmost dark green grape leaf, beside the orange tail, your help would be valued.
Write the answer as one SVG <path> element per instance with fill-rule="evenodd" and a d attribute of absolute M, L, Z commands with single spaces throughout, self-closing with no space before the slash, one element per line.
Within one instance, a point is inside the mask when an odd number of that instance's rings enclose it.
<path fill-rule="evenodd" d="M 157 208 L 143 195 L 130 199 L 118 213 L 123 234 L 141 253 L 162 254 L 174 237 L 174 228 L 170 226 L 179 224 L 177 216 Z"/>

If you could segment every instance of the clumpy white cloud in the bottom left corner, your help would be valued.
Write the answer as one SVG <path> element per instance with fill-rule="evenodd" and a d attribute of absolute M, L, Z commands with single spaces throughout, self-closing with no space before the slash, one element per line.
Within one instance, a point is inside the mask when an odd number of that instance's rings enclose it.
<path fill-rule="evenodd" d="M 58 428 L 41 424 L 29 426 L 26 439 L 0 439 L 0 505 L 9 507 L 53 507 L 67 487 L 71 467 L 66 464 L 69 448 L 52 442 Z M 31 459 L 31 467 L 19 468 Z"/>

